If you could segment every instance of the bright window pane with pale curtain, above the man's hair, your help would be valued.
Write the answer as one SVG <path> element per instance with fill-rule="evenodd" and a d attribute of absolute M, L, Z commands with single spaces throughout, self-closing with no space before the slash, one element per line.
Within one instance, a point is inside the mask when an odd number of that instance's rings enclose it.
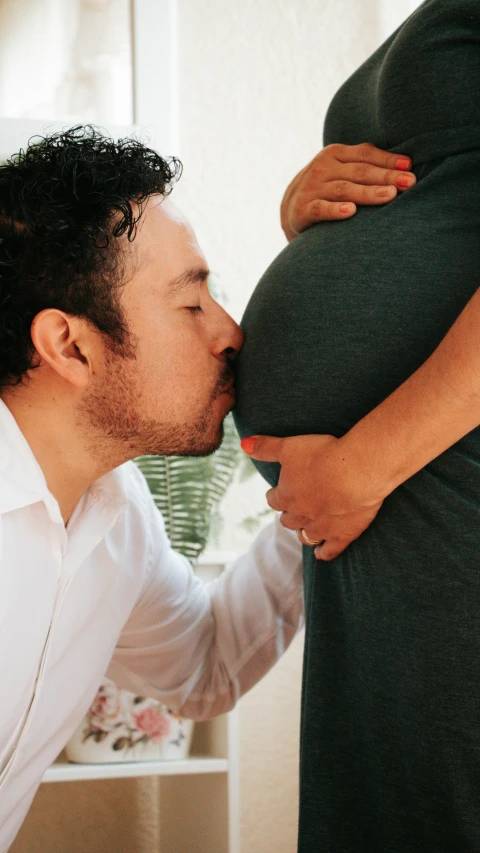
<path fill-rule="evenodd" d="M 130 124 L 130 0 L 0 0 L 0 116 Z"/>

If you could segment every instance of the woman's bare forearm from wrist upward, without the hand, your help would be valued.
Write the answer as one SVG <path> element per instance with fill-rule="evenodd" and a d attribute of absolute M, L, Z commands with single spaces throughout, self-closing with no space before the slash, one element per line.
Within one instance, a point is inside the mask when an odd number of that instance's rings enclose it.
<path fill-rule="evenodd" d="M 430 358 L 342 439 L 383 497 L 480 424 L 480 289 Z"/>

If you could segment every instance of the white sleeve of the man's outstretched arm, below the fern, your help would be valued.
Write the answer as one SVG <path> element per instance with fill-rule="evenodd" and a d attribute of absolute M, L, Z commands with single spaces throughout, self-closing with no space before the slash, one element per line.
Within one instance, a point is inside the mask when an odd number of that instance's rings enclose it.
<path fill-rule="evenodd" d="M 107 675 L 175 713 L 207 719 L 230 710 L 303 627 L 301 545 L 276 519 L 205 584 L 171 549 L 157 516 L 148 580 Z"/>

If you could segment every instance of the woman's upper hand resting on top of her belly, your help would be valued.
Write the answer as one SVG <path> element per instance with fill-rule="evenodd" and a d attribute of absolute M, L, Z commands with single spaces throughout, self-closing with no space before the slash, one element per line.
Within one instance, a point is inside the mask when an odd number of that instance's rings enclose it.
<path fill-rule="evenodd" d="M 412 187 L 412 161 L 361 145 L 328 145 L 287 187 L 280 221 L 288 241 L 326 219 L 350 219 L 357 204 L 385 204 Z"/>

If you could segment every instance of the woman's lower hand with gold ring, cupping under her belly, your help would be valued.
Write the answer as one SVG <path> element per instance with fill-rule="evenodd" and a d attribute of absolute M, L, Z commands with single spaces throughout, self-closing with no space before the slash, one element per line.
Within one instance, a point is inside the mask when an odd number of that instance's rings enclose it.
<path fill-rule="evenodd" d="M 333 560 L 357 539 L 388 492 L 375 485 L 372 472 L 342 438 L 261 435 L 241 444 L 253 459 L 280 462 L 278 486 L 267 492 L 267 502 L 282 513 L 284 527 L 299 531 L 300 542 L 317 545 L 318 560 Z"/>

